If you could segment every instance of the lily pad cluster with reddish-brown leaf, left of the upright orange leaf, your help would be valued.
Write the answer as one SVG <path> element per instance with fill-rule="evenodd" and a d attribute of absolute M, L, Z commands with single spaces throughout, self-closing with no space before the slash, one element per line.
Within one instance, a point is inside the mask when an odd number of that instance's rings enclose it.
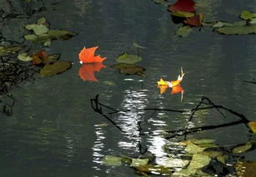
<path fill-rule="evenodd" d="M 29 56 L 27 53 L 18 55 L 18 59 L 21 61 L 32 61 L 33 65 L 41 67 L 41 76 L 53 76 L 64 71 L 67 71 L 71 67 L 71 61 L 58 61 L 60 54 L 48 54 L 43 50 L 34 53 Z"/>

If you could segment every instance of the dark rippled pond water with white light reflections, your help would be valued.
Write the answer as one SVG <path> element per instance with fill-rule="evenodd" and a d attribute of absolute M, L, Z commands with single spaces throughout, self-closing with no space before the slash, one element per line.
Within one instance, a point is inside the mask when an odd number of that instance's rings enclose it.
<path fill-rule="evenodd" d="M 41 2 L 41 1 L 38 1 Z M 256 11 L 253 1 L 198 0 L 208 21 L 238 20 L 239 13 Z M 173 3 L 173 2 L 171 2 Z M 104 155 L 138 156 L 139 145 L 156 155 L 164 165 L 163 130 L 182 129 L 190 114 L 157 111 L 130 111 L 113 115 L 113 120 L 129 135 L 123 135 L 106 118 L 94 112 L 89 99 L 99 94 L 105 105 L 120 110 L 166 108 L 189 110 L 203 95 L 215 104 L 237 111 L 255 120 L 256 37 L 224 36 L 210 27 L 193 28 L 188 37 L 176 37 L 178 24 L 163 5 L 149 0 L 63 0 L 45 2 L 45 11 L 24 22 L 46 17 L 51 27 L 78 32 L 68 41 L 54 41 L 48 53 L 61 53 L 61 60 L 73 61 L 73 67 L 58 76 L 37 76 L 10 91 L 17 99 L 13 116 L 0 119 L 1 176 L 136 176 L 128 166 L 102 165 Z M 0 5 L 1 6 L 1 5 Z M 121 75 L 110 66 L 123 52 L 134 52 L 133 43 L 146 68 L 143 76 Z M 78 53 L 83 47 L 98 46 L 98 54 L 107 57 L 107 67 L 97 72 L 98 82 L 83 81 L 78 76 Z M 35 48 L 41 49 L 40 46 Z M 160 77 L 175 79 L 180 67 L 183 101 L 180 94 L 160 95 L 156 86 Z M 218 111 L 198 112 L 195 125 L 217 125 L 238 119 L 231 114 L 223 119 Z M 153 135 L 139 135 L 141 131 Z M 235 125 L 194 134 L 218 145 L 243 144 L 248 140 L 244 125 Z M 183 137 L 181 137 L 183 138 Z M 256 160 L 255 150 L 245 155 Z"/>

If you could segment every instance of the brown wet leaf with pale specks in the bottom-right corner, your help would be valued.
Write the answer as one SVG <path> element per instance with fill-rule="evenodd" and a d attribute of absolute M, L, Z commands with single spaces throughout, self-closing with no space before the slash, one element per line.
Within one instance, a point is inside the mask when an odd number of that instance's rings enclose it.
<path fill-rule="evenodd" d="M 253 177 L 256 176 L 256 162 L 238 161 L 235 165 L 236 175 L 238 177 Z"/>

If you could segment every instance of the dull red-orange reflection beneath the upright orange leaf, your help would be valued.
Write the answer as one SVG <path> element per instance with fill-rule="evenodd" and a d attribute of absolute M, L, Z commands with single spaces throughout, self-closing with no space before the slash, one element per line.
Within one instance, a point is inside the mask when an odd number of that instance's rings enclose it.
<path fill-rule="evenodd" d="M 79 69 L 79 76 L 83 81 L 98 81 L 94 72 L 100 71 L 104 66 L 101 62 L 83 64 Z"/>

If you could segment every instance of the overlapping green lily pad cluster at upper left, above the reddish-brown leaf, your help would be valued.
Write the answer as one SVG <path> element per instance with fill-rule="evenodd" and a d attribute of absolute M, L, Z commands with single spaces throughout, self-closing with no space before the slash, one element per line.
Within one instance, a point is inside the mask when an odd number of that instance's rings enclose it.
<path fill-rule="evenodd" d="M 51 45 L 52 40 L 68 40 L 77 35 L 74 32 L 50 29 L 45 17 L 39 18 L 36 23 L 26 25 L 25 28 L 32 32 L 24 36 L 27 41 L 43 42 L 44 46 Z"/>

